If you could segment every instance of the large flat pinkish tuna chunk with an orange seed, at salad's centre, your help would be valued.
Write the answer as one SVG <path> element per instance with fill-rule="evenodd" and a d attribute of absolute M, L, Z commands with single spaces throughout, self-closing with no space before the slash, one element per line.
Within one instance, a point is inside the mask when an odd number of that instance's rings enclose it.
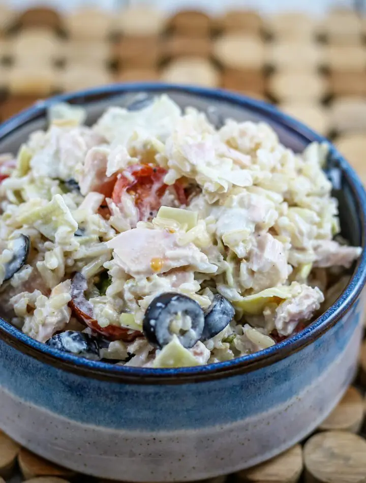
<path fill-rule="evenodd" d="M 193 244 L 180 246 L 178 235 L 167 230 L 134 228 L 107 242 L 115 262 L 132 277 L 149 277 L 172 268 L 191 266 L 203 273 L 215 273 L 216 265 Z"/>

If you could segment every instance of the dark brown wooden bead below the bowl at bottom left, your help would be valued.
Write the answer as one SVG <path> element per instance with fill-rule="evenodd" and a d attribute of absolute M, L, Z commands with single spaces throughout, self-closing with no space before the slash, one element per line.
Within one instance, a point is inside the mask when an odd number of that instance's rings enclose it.
<path fill-rule="evenodd" d="M 67 468 L 44 460 L 25 448 L 20 450 L 18 463 L 25 479 L 35 478 L 37 476 L 65 476 L 68 478 L 75 474 Z"/>

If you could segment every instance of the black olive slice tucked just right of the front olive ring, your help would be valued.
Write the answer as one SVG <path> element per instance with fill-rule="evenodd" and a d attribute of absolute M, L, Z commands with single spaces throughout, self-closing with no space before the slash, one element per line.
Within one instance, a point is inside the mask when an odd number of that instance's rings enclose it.
<path fill-rule="evenodd" d="M 232 320 L 235 310 L 226 298 L 217 294 L 205 312 L 201 341 L 207 341 L 221 332 Z"/>

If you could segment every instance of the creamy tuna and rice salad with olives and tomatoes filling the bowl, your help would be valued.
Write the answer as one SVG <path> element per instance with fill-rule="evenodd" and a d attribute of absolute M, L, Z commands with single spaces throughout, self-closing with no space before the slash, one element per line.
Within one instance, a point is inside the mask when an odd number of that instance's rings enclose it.
<path fill-rule="evenodd" d="M 140 107 L 140 108 L 138 108 Z M 265 349 L 309 324 L 361 249 L 339 236 L 327 145 L 168 96 L 92 127 L 58 104 L 0 168 L 1 306 L 61 351 L 140 367 Z"/>

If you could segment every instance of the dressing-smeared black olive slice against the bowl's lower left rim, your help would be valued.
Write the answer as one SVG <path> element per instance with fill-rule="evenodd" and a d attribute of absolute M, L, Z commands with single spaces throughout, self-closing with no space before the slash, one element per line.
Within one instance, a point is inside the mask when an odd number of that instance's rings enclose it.
<path fill-rule="evenodd" d="M 97 338 L 92 335 L 75 330 L 66 330 L 66 332 L 52 336 L 46 341 L 46 344 L 54 349 L 69 352 L 86 359 L 99 360 L 97 341 Z"/>

